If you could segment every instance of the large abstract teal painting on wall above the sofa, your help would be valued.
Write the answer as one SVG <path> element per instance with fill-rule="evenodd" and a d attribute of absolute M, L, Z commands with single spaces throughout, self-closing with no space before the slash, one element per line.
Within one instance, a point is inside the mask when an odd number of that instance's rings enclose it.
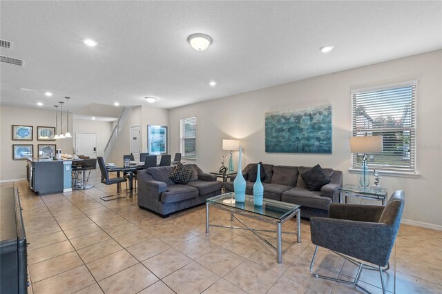
<path fill-rule="evenodd" d="M 266 112 L 265 152 L 332 154 L 332 106 Z"/>

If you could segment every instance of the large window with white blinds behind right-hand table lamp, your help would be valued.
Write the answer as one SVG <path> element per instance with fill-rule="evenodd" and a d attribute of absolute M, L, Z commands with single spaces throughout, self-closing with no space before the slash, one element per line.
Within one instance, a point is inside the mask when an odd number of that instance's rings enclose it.
<path fill-rule="evenodd" d="M 383 152 L 367 155 L 370 169 L 416 173 L 416 82 L 352 91 L 352 133 L 383 136 Z M 352 168 L 362 157 L 352 154 Z"/>

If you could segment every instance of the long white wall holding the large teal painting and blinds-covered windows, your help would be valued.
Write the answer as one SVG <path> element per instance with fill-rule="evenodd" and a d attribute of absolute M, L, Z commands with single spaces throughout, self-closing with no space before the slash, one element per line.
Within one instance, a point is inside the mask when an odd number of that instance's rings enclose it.
<path fill-rule="evenodd" d="M 332 58 L 332 57 L 331 57 Z M 238 138 L 244 148 L 243 165 L 263 161 L 271 164 L 331 167 L 342 170 L 345 184 L 358 183 L 349 173 L 351 165 L 350 90 L 416 79 L 417 165 L 419 177 L 381 177 L 392 193 L 404 190 L 404 218 L 442 226 L 442 50 L 364 66 L 330 75 L 295 81 L 240 95 L 193 104 L 169 111 L 171 150 L 179 149 L 179 126 L 183 117 L 197 117 L 197 159 L 203 170 L 218 170 L 222 139 Z M 220 81 L 219 85 L 222 85 Z M 309 105 L 332 105 L 333 153 L 331 155 L 265 153 L 265 112 Z M 235 154 L 238 166 L 238 153 Z M 189 160 L 186 160 L 189 161 Z"/>

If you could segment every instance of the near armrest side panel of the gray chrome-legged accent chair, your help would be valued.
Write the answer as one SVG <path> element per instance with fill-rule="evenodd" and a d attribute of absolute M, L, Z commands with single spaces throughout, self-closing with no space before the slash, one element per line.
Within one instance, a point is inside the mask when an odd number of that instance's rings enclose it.
<path fill-rule="evenodd" d="M 311 242 L 358 259 L 386 266 L 394 244 L 392 227 L 326 217 L 310 218 Z"/>

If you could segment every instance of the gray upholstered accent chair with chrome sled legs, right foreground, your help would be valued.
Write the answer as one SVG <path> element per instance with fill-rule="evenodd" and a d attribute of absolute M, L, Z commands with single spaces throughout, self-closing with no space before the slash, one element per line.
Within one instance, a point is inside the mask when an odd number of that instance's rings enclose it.
<path fill-rule="evenodd" d="M 362 288 L 357 284 L 362 269 L 376 269 L 381 275 L 382 291 L 385 293 L 383 271 L 390 268 L 388 261 L 401 225 L 404 206 L 404 193 L 397 190 L 390 197 L 386 206 L 330 204 L 329 217 L 311 217 L 311 243 L 316 245 L 310 264 L 311 275 L 326 280 L 354 284 Z M 318 246 L 334 251 L 354 264 L 358 264 L 358 273 L 354 281 L 340 280 L 314 273 L 313 266 Z M 352 257 L 369 264 L 364 264 Z"/>

